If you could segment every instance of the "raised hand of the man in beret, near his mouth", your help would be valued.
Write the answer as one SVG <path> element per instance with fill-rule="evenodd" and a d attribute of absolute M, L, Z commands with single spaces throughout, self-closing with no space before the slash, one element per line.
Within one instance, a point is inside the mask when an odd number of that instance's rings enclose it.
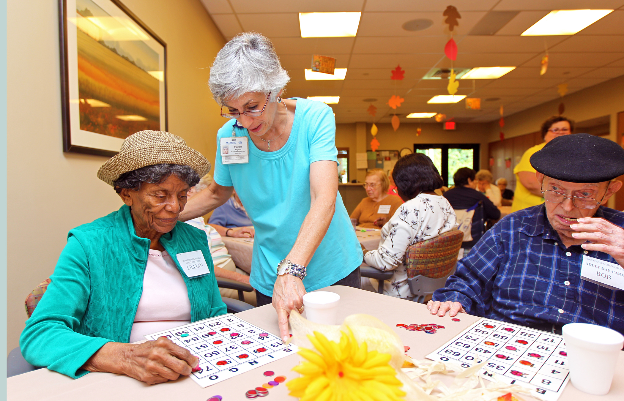
<path fill-rule="evenodd" d="M 580 232 L 572 233 L 572 237 L 591 242 L 582 244 L 581 248 L 608 253 L 624 267 L 624 229 L 603 218 L 583 217 L 577 219 L 577 222 L 570 228 Z"/>

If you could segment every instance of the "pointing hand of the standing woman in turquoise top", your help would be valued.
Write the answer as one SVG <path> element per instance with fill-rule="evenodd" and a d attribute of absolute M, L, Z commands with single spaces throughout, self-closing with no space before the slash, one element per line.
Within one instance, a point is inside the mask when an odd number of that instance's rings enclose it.
<path fill-rule="evenodd" d="M 283 274 L 277 276 L 275 286 L 273 286 L 273 307 L 277 311 L 277 321 L 280 326 L 280 338 L 283 341 L 288 340 L 288 316 L 293 309 L 301 309 L 303 306 L 303 296 L 306 293 L 306 287 L 303 281 L 291 276 Z"/>

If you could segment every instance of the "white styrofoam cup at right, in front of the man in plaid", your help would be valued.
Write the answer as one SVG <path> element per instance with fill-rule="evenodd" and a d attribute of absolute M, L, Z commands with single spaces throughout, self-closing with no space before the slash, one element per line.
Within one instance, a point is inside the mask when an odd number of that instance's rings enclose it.
<path fill-rule="evenodd" d="M 587 323 L 563 326 L 570 380 L 587 394 L 609 392 L 624 336 L 608 327 Z"/>

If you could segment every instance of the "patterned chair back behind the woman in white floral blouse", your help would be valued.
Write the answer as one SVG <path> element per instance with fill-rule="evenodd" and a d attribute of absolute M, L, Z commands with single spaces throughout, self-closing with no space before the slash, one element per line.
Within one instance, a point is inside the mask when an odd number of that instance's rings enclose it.
<path fill-rule="evenodd" d="M 463 240 L 464 233 L 459 229 L 452 229 L 436 238 L 408 246 L 407 277 L 422 275 L 437 279 L 447 276 L 457 264 L 457 254 Z"/>

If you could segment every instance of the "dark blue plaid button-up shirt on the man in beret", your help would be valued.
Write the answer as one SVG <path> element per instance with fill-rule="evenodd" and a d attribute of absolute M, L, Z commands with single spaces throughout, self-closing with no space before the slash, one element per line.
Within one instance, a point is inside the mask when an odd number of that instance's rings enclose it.
<path fill-rule="evenodd" d="M 594 216 L 624 226 L 620 211 L 600 206 Z M 624 291 L 582 280 L 583 254 L 616 263 L 580 245 L 565 248 L 544 205 L 520 210 L 484 234 L 433 299 L 461 302 L 469 314 L 499 321 L 593 323 L 624 334 Z"/>

